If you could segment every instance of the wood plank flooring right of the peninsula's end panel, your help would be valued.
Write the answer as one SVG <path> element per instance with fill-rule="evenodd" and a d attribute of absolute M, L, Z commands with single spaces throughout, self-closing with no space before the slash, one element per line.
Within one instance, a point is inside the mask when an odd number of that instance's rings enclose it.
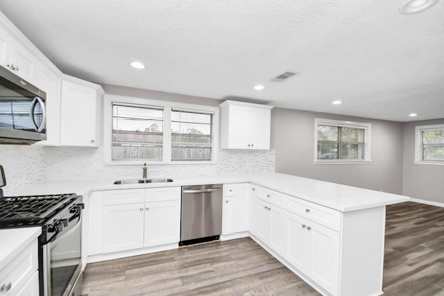
<path fill-rule="evenodd" d="M 384 295 L 444 295 L 444 208 L 386 207 Z"/>

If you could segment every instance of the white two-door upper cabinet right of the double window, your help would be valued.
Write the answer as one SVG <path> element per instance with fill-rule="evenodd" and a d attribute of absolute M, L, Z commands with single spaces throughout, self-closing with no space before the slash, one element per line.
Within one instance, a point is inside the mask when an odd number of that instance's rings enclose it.
<path fill-rule="evenodd" d="M 221 103 L 222 149 L 270 149 L 273 106 L 225 101 Z"/>

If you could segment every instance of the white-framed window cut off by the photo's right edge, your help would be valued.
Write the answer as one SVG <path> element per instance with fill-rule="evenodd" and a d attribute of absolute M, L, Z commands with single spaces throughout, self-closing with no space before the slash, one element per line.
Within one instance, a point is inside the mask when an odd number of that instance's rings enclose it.
<path fill-rule="evenodd" d="M 415 134 L 415 163 L 444 164 L 444 124 L 417 126 Z"/>

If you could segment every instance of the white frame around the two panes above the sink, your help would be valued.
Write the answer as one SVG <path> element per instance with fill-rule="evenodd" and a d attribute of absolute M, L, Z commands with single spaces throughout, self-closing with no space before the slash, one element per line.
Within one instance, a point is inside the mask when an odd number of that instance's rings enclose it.
<path fill-rule="evenodd" d="M 216 164 L 219 150 L 219 107 L 196 105 L 189 103 L 177 103 L 173 101 L 160 101 L 150 98 L 135 98 L 130 96 L 119 96 L 114 94 L 105 94 L 103 97 L 103 152 L 105 164 L 118 165 L 147 165 L 153 164 Z M 112 104 L 126 105 L 146 105 L 163 107 L 163 147 L 162 160 L 134 159 L 134 160 L 114 160 L 112 159 Z M 192 112 L 213 113 L 212 124 L 212 158 L 211 160 L 171 160 L 171 110 L 181 109 Z"/>

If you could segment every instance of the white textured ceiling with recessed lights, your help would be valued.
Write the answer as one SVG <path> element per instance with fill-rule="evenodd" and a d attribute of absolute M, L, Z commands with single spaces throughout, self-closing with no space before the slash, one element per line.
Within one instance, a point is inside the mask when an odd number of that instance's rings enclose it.
<path fill-rule="evenodd" d="M 0 10 L 85 80 L 392 121 L 444 118 L 444 1 L 401 15 L 403 1 L 0 0 Z M 285 71 L 298 75 L 271 81 Z"/>

